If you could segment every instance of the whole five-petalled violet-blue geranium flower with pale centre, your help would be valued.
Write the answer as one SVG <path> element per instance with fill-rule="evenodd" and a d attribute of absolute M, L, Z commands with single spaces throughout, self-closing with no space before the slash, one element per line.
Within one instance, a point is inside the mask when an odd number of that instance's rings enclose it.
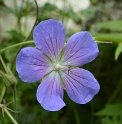
<path fill-rule="evenodd" d="M 65 28 L 53 19 L 40 22 L 33 32 L 37 48 L 23 48 L 17 56 L 16 69 L 24 82 L 36 82 L 36 97 L 41 106 L 57 111 L 65 106 L 64 90 L 79 104 L 89 102 L 100 86 L 82 66 L 98 55 L 98 46 L 87 31 L 72 35 L 65 44 Z"/>

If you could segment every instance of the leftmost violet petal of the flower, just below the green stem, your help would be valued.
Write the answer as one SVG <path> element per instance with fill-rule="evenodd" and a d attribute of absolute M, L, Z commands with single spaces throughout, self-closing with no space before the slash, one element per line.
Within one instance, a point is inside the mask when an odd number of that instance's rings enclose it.
<path fill-rule="evenodd" d="M 16 63 L 16 70 L 24 82 L 38 81 L 52 70 L 42 52 L 33 47 L 23 48 Z"/>

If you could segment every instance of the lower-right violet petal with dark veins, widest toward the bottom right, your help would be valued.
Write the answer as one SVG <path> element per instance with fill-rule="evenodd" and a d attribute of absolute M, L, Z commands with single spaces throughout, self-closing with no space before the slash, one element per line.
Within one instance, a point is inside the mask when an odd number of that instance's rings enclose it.
<path fill-rule="evenodd" d="M 75 68 L 62 73 L 68 96 L 76 103 L 85 104 L 98 93 L 100 86 L 92 73 Z"/>

